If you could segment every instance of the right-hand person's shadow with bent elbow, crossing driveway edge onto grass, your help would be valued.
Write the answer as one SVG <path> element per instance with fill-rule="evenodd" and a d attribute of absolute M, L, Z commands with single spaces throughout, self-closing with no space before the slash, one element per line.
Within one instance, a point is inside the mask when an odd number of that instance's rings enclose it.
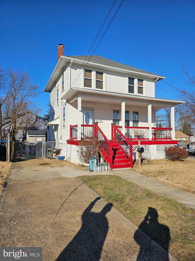
<path fill-rule="evenodd" d="M 151 239 L 153 239 L 157 244 L 166 250 L 163 252 L 158 252 L 159 258 L 155 256 L 156 254 L 151 253 L 150 243 L 146 243 L 146 240 L 142 238 L 141 229 L 145 234 L 147 234 Z M 168 261 L 168 247 L 170 241 L 170 233 L 168 226 L 158 223 L 158 211 L 153 207 L 148 207 L 148 212 L 134 234 L 134 239 L 137 244 L 140 245 L 140 252 L 137 256 L 137 261 L 146 260 L 161 260 Z M 154 256 L 153 256 L 154 254 Z M 157 259 L 156 259 L 157 258 Z"/>

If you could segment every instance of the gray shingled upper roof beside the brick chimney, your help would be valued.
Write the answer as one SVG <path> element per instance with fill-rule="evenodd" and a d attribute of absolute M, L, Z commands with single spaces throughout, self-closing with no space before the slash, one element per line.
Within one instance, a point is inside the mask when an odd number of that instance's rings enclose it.
<path fill-rule="evenodd" d="M 111 67 L 115 67 L 115 68 L 119 68 L 119 69 L 124 69 L 124 70 L 129 70 L 129 71 L 133 71 L 133 72 L 137 72 L 137 73 L 147 73 L 147 74 L 150 74 L 150 75 L 161 76 L 161 75 L 150 73 L 150 72 L 147 72 L 147 71 L 144 71 L 144 70 L 141 70 L 141 69 L 120 63 L 120 62 L 115 62 L 115 61 L 109 60 L 109 59 L 101 57 L 99 55 L 92 55 L 91 57 L 90 56 L 83 56 L 83 55 L 82 56 L 66 56 L 66 57 L 74 58 L 74 59 L 78 59 L 78 60 L 82 60 L 82 61 L 94 62 L 94 63 L 97 63 L 97 64 L 107 65 L 107 66 L 111 66 Z M 161 77 L 163 77 L 163 76 L 161 76 Z"/>

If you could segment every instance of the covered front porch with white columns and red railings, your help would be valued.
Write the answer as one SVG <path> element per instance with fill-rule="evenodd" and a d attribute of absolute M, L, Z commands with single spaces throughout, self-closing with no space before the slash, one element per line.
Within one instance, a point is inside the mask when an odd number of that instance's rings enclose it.
<path fill-rule="evenodd" d="M 109 140 L 112 123 L 130 140 L 175 140 L 174 106 L 182 103 L 82 88 L 71 88 L 62 101 L 67 103 L 73 114 L 71 121 L 67 120 L 67 140 L 81 140 L 88 136 L 96 122 Z M 168 107 L 171 108 L 170 126 L 158 125 L 156 111 Z"/>

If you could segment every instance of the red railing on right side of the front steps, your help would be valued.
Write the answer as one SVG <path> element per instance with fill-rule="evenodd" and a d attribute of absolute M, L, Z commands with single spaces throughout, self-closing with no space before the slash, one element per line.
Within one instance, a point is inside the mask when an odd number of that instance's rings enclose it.
<path fill-rule="evenodd" d="M 130 167 L 133 168 L 133 144 L 114 124 L 112 125 L 112 140 L 119 144 L 121 150 L 130 161 Z"/>

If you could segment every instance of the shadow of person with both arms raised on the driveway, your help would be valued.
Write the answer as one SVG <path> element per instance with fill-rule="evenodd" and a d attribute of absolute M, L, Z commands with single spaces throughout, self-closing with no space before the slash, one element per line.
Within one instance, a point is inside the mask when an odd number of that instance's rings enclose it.
<path fill-rule="evenodd" d="M 108 233 L 108 220 L 105 215 L 111 210 L 112 204 L 106 204 L 99 213 L 92 212 L 92 208 L 99 199 L 101 198 L 97 197 L 83 212 L 79 232 L 55 261 L 98 261 L 100 259 Z"/>

